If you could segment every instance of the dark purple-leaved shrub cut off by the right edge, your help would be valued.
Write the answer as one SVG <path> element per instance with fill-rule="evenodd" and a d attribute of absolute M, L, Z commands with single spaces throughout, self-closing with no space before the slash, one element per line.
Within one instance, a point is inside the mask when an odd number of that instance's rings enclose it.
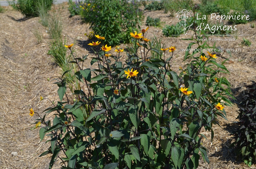
<path fill-rule="evenodd" d="M 256 159 L 256 83 L 252 81 L 247 86 L 243 94 L 243 101 L 239 104 L 239 129 L 234 136 L 236 141 L 231 145 L 234 146 L 236 154 L 250 167 Z"/>

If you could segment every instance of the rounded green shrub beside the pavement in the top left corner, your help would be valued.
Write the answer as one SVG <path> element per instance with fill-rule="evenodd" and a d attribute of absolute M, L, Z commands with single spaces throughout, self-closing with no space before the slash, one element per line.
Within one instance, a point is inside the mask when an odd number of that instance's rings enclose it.
<path fill-rule="evenodd" d="M 26 17 L 37 17 L 39 16 L 37 10 L 38 4 L 45 4 L 46 10 L 48 11 L 51 9 L 52 3 L 53 0 L 17 0 L 9 2 L 9 5 L 13 9 L 20 11 Z"/>

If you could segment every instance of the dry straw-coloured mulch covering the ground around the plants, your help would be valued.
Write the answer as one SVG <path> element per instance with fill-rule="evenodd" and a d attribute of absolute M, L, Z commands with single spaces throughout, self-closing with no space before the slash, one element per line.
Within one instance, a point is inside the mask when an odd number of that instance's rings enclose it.
<path fill-rule="evenodd" d="M 89 40 L 84 35 L 91 31 L 89 25 L 83 23 L 79 16 L 69 17 L 67 8 L 67 3 L 52 6 L 52 11 L 61 15 L 63 36 L 67 38 L 68 44 L 75 43 L 74 50 L 77 56 L 93 55 L 87 45 Z M 61 69 L 47 54 L 49 36 L 46 32 L 47 28 L 40 25 L 39 18 L 24 19 L 22 14 L 14 11 L 11 7 L 5 7 L 5 9 L 5 13 L 0 13 L 0 168 L 46 169 L 50 155 L 38 156 L 47 150 L 49 144 L 45 144 L 47 139 L 40 141 L 37 129 L 30 130 L 35 125 L 33 123 L 38 115 L 35 113 L 33 117 L 30 117 L 29 109 L 33 108 L 39 115 L 44 115 L 42 111 L 50 106 L 50 102 L 46 99 L 40 101 L 40 96 L 57 102 L 57 86 L 46 79 L 59 76 Z M 161 18 L 163 26 L 178 22 L 177 18 L 170 17 L 170 14 L 165 14 L 164 11 L 145 11 L 144 15 L 145 20 L 147 16 Z M 145 20 L 141 25 L 141 28 L 144 29 L 147 27 Z M 36 37 L 32 33 L 35 29 L 41 32 L 42 43 L 37 43 Z M 154 27 L 150 27 L 146 33 L 147 39 L 153 39 L 154 35 L 161 38 L 165 48 L 176 46 L 172 63 L 174 71 L 178 71 L 179 66 L 186 64 L 182 62 L 185 52 L 182 52 L 181 48 L 186 48 L 189 41 L 181 39 L 191 38 L 190 35 L 177 38 L 165 37 L 161 28 Z M 238 25 L 236 34 L 250 34 L 250 37 L 231 36 L 236 38 L 236 41 L 216 42 L 216 46 L 223 49 L 238 47 L 241 49 L 239 52 L 231 52 L 231 57 L 227 52 L 217 53 L 218 58 L 216 59 L 218 63 L 228 59 L 225 66 L 230 74 L 225 76 L 231 83 L 232 92 L 237 100 L 233 101 L 232 107 L 225 107 L 228 120 L 219 119 L 220 126 L 213 126 L 215 133 L 213 142 L 211 142 L 210 133 L 203 132 L 208 138 L 204 139 L 203 144 L 209 150 L 210 164 L 204 163 L 200 159 L 198 168 L 249 168 L 242 161 L 236 160 L 229 145 L 234 141 L 230 133 L 234 129 L 233 121 L 237 121 L 239 110 L 237 104 L 243 96 L 244 86 L 250 84 L 251 80 L 255 81 L 255 33 L 256 28 L 251 28 L 250 23 Z M 242 45 L 242 38 L 248 38 L 252 42 L 251 46 Z M 212 44 L 213 42 L 210 43 L 210 45 Z M 125 44 L 120 46 L 122 49 L 127 47 Z M 48 114 L 46 118 L 54 118 L 54 115 Z M 12 155 L 12 152 L 17 152 L 18 155 Z M 60 168 L 60 161 L 57 160 L 53 168 Z M 256 168 L 256 166 L 252 165 L 251 168 Z"/>

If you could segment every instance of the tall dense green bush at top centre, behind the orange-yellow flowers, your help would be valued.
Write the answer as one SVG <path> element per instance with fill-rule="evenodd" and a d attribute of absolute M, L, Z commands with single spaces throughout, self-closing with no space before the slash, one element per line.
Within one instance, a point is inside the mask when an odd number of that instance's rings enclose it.
<path fill-rule="evenodd" d="M 95 34 L 106 37 L 103 42 L 110 45 L 129 43 L 126 30 L 137 27 L 143 19 L 137 1 L 86 0 L 81 8 L 84 21 L 90 23 Z"/>

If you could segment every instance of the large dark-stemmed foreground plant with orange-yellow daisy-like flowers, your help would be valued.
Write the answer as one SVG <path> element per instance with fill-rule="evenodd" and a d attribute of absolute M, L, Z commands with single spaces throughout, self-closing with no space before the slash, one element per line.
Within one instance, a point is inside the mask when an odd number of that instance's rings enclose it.
<path fill-rule="evenodd" d="M 67 72 L 52 78 L 60 101 L 44 112 L 56 116 L 51 122 L 44 115 L 36 123 L 41 140 L 49 133 L 51 145 L 41 154 L 52 153 L 49 168 L 59 152 L 65 153 L 62 168 L 192 169 L 198 167 L 200 154 L 209 163 L 200 132 L 211 131 L 213 139 L 212 125 L 218 124 L 218 117 L 226 118 L 220 100 L 228 100 L 228 83 L 225 78 L 216 80 L 218 73 L 227 72 L 224 62 L 212 57 L 202 61 L 197 53 L 178 75 L 171 69 L 174 46 L 163 50 L 172 52 L 171 57 L 148 60 L 148 52 L 159 54 L 159 49 L 141 43 L 145 31 L 135 32 L 137 36 L 129 32 L 136 38 L 135 48 L 126 53 L 125 63 L 118 61 L 123 52 L 118 46 L 114 56 L 108 55 L 108 44 L 100 42 L 101 48 L 90 43 L 95 52 L 90 65 L 95 69 L 84 68 L 88 55 L 73 61 L 81 88 L 87 89 L 74 91 L 76 99 L 66 94 Z"/>

